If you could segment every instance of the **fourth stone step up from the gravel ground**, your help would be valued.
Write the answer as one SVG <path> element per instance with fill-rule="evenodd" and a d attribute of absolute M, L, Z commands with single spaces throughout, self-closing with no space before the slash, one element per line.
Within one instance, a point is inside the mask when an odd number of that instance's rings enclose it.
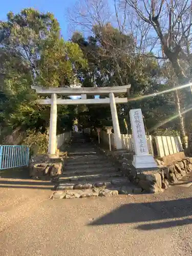
<path fill-rule="evenodd" d="M 66 169 L 62 176 L 67 177 L 67 176 L 81 176 L 81 175 L 94 175 L 94 174 L 108 174 L 108 173 L 114 173 L 117 172 L 118 169 L 115 168 L 114 166 L 112 167 L 105 167 L 105 168 L 93 168 L 93 169 L 77 169 L 77 170 L 68 170 Z"/>

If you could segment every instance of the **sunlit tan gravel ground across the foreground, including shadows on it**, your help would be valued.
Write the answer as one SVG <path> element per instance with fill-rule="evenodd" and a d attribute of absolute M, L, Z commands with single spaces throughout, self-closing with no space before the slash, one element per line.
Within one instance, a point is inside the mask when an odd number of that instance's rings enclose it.
<path fill-rule="evenodd" d="M 1 178 L 0 187 L 0 255 L 192 255 L 190 183 L 69 200 L 50 200 L 49 182 Z"/>

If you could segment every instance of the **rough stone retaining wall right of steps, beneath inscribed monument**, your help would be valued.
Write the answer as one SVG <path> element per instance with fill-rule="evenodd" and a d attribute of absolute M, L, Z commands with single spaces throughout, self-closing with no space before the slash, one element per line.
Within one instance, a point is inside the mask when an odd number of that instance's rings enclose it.
<path fill-rule="evenodd" d="M 192 170 L 192 158 L 185 157 L 184 152 L 176 153 L 158 159 L 161 166 L 157 169 L 139 170 L 132 165 L 133 154 L 127 151 L 109 151 L 95 143 L 106 157 L 114 164 L 119 163 L 124 176 L 127 176 L 131 182 L 140 186 L 143 191 L 148 193 L 157 193 L 163 191 L 168 185 L 176 183 Z M 126 157 L 125 157 L 126 155 Z M 166 166 L 163 164 L 166 163 Z"/>

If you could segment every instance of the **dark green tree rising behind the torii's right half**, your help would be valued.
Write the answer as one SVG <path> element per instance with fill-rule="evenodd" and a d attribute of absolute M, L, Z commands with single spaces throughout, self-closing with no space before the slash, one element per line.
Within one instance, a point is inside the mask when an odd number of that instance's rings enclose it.
<path fill-rule="evenodd" d="M 154 132 L 153 127 L 157 123 L 160 124 L 164 115 L 170 116 L 175 111 L 173 97 L 170 94 L 145 98 L 146 95 L 158 93 L 165 88 L 158 81 L 161 77 L 158 62 L 153 58 L 152 53 L 150 53 L 151 58 L 130 54 L 129 52 L 135 48 L 132 37 L 120 33 L 110 24 L 103 27 L 94 26 L 93 32 L 95 36 L 92 35 L 88 39 L 83 38 L 78 32 L 72 36 L 72 40 L 77 42 L 88 60 L 88 69 L 79 71 L 79 75 L 84 78 L 83 85 L 97 84 L 106 87 L 131 84 L 131 99 L 127 104 L 117 105 L 121 131 L 125 132 L 123 119 L 125 118 L 129 123 L 130 109 L 142 108 L 147 127 Z M 92 115 L 94 116 L 92 125 L 104 125 L 111 120 L 109 106 L 104 109 L 103 106 L 88 106 L 88 108 L 90 120 Z M 131 132 L 130 127 L 129 132 Z"/>

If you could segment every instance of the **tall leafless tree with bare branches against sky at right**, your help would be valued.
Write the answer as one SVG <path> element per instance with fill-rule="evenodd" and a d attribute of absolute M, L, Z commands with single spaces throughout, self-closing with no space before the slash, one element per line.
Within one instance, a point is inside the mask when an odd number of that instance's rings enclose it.
<path fill-rule="evenodd" d="M 139 20 L 137 26 L 148 25 L 156 34 L 156 43 L 160 54 L 158 59 L 171 63 L 179 86 L 191 82 L 191 1 L 184 0 L 125 0 L 127 8 L 124 13 L 134 12 Z M 130 10 L 131 9 L 131 10 Z M 154 37 L 154 35 L 153 35 Z M 150 37 L 145 37 L 145 41 Z M 185 94 L 185 127 L 188 136 L 188 153 L 192 152 L 192 97 L 190 88 L 182 90 Z M 177 95 L 176 95 L 177 96 Z M 176 105 L 178 100 L 176 98 Z"/>

